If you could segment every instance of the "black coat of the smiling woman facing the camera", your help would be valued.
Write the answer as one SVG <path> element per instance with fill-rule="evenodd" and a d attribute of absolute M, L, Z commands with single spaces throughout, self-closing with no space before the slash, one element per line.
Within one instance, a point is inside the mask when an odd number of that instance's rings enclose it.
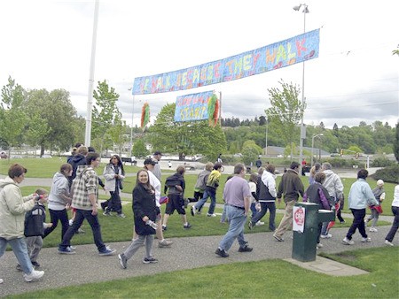
<path fill-rule="evenodd" d="M 155 234 L 155 230 L 151 226 L 147 226 L 143 221 L 143 217 L 147 216 L 155 222 L 157 216 L 157 208 L 155 203 L 155 193 L 150 194 L 142 184 L 138 183 L 133 189 L 132 209 L 135 219 L 135 231 L 138 235 Z"/>

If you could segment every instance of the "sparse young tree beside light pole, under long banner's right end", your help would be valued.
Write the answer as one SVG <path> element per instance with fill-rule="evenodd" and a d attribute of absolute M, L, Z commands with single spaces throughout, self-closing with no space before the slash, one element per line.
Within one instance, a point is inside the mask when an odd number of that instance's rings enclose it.
<path fill-rule="evenodd" d="M 306 103 L 299 99 L 300 88 L 293 83 L 286 83 L 283 80 L 278 82 L 281 88 L 270 88 L 271 107 L 265 112 L 270 122 L 278 124 L 279 133 L 285 144 L 293 144 L 295 136 L 299 136 L 296 126 L 300 123 Z M 293 157 L 293 149 L 291 149 Z"/>

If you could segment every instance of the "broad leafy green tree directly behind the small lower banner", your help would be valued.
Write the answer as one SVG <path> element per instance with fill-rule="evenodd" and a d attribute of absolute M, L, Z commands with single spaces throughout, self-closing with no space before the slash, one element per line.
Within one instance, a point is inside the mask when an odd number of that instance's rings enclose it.
<path fill-rule="evenodd" d="M 175 122 L 175 107 L 175 103 L 163 106 L 154 125 L 150 126 L 153 149 L 175 152 L 181 158 L 203 154 L 210 160 L 226 151 L 227 142 L 221 126 L 209 126 L 207 120 Z"/>

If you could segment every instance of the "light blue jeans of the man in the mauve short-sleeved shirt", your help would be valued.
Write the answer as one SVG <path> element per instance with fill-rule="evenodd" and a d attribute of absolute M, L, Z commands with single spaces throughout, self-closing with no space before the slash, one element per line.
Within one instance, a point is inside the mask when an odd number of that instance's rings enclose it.
<path fill-rule="evenodd" d="M 227 219 L 229 219 L 230 226 L 227 233 L 224 235 L 222 241 L 219 243 L 219 248 L 225 251 L 231 248 L 234 240 L 239 241 L 240 247 L 246 246 L 244 239 L 244 226 L 246 224 L 246 215 L 243 209 L 233 207 L 226 204 Z"/>

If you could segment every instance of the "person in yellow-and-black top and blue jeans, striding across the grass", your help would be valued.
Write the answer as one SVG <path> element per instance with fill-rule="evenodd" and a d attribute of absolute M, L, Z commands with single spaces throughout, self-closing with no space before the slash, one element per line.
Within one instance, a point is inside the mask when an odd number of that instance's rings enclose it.
<path fill-rule="evenodd" d="M 192 216 L 200 213 L 202 207 L 207 203 L 207 198 L 210 197 L 211 203 L 209 205 L 209 210 L 207 211 L 207 217 L 215 217 L 215 206 L 216 206 L 216 189 L 219 187 L 219 180 L 221 176 L 222 164 L 215 163 L 214 170 L 209 173 L 207 178 L 207 187 L 205 188 L 204 196 L 198 203 L 192 206 Z"/>

